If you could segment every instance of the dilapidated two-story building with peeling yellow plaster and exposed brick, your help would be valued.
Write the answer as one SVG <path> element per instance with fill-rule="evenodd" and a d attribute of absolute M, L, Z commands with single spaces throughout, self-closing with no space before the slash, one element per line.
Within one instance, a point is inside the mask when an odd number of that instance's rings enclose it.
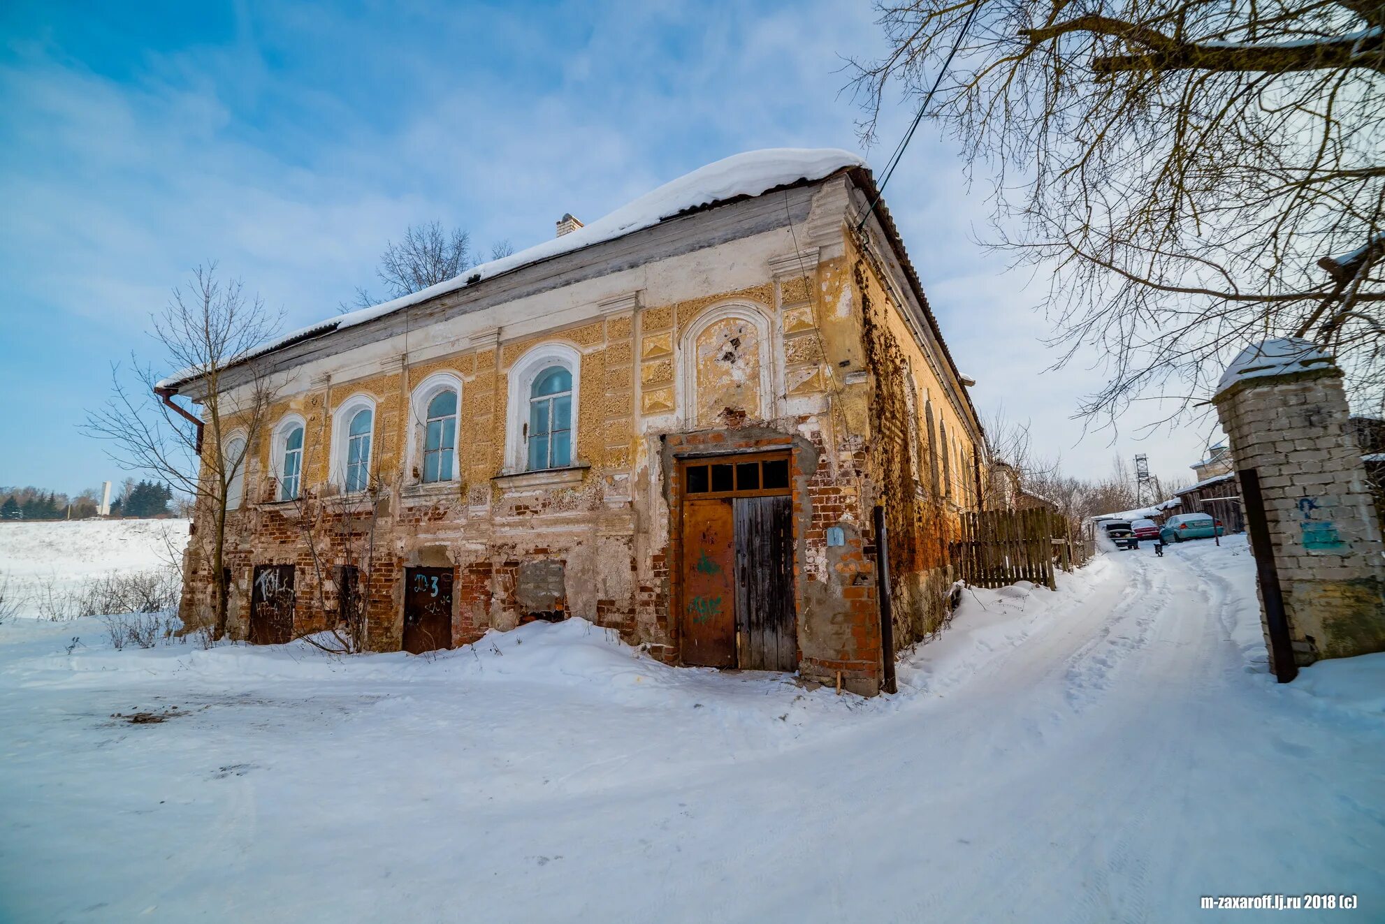
<path fill-rule="evenodd" d="M 287 640 L 348 598 L 375 650 L 578 616 L 668 663 L 877 692 L 889 636 L 942 625 L 985 477 L 877 199 L 843 151 L 737 155 L 247 355 L 223 387 L 267 376 L 276 404 L 227 516 L 231 632 Z M 205 534 L 190 624 L 211 611 Z"/>

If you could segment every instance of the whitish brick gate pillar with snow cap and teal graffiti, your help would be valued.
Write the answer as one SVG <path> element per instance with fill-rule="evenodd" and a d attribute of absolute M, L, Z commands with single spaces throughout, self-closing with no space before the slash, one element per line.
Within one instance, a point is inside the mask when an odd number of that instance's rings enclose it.
<path fill-rule="evenodd" d="M 1237 470 L 1259 476 L 1295 663 L 1385 650 L 1385 546 L 1342 371 L 1312 343 L 1267 340 L 1241 351 L 1212 401 Z"/>

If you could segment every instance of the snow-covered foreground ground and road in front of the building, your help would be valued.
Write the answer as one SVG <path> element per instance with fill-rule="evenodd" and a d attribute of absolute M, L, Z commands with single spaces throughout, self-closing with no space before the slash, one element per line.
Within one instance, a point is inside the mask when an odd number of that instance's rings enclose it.
<path fill-rule="evenodd" d="M 1064 578 L 968 592 L 875 700 L 580 620 L 349 660 L 18 620 L 0 920 L 1385 918 L 1385 656 L 1276 685 L 1240 537 Z"/>

